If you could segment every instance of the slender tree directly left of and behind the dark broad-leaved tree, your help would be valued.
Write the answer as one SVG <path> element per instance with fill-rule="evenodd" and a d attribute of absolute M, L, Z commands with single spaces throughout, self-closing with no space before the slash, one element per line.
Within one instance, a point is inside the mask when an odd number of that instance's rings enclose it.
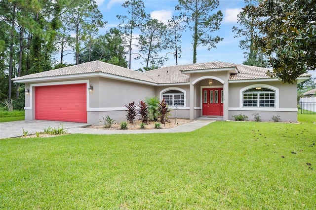
<path fill-rule="evenodd" d="M 245 4 L 258 5 L 259 0 L 245 0 Z M 240 28 L 234 26 L 233 32 L 236 33 L 234 38 L 244 38 L 243 40 L 239 41 L 239 47 L 241 49 L 247 50 L 244 52 L 244 57 L 246 60 L 243 62 L 243 64 L 249 66 L 268 67 L 268 63 L 263 54 L 253 50 L 253 37 L 255 31 L 257 31 L 257 29 L 253 26 L 253 23 L 257 20 L 250 19 L 248 14 L 244 11 L 239 12 L 237 17 L 237 22 L 239 23 Z"/>

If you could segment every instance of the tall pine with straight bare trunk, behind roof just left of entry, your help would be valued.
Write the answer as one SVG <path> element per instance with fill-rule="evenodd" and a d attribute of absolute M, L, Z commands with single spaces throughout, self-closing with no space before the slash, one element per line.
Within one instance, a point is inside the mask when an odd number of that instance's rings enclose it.
<path fill-rule="evenodd" d="M 219 36 L 209 35 L 220 29 L 219 26 L 223 20 L 221 10 L 211 13 L 218 5 L 218 0 L 179 0 L 179 4 L 176 5 L 176 10 L 181 10 L 181 14 L 187 18 L 186 22 L 193 23 L 189 25 L 189 29 L 193 31 L 193 63 L 197 62 L 198 45 L 208 46 L 210 50 L 223 40 Z"/>

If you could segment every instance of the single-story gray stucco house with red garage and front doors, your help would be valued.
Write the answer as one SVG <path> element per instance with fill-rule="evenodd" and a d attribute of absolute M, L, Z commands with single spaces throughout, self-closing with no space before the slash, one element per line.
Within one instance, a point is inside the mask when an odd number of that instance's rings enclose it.
<path fill-rule="evenodd" d="M 258 113 L 263 121 L 279 115 L 297 121 L 298 78 L 283 84 L 268 69 L 225 62 L 169 66 L 137 72 L 101 61 L 14 78 L 25 84 L 25 119 L 97 124 L 107 115 L 126 121 L 125 104 L 146 97 L 164 98 L 177 118 Z M 174 117 L 175 112 L 172 112 Z"/>

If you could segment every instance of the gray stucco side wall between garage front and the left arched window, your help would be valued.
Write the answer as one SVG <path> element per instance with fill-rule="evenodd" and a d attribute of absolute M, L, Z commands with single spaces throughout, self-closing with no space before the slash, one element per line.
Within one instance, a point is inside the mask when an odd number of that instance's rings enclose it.
<path fill-rule="evenodd" d="M 87 122 L 97 124 L 106 117 L 115 119 L 117 123 L 126 121 L 125 104 L 135 101 L 139 104 L 146 97 L 155 95 L 155 87 L 146 84 L 113 80 L 108 78 L 92 78 L 93 91 L 89 92 Z"/>

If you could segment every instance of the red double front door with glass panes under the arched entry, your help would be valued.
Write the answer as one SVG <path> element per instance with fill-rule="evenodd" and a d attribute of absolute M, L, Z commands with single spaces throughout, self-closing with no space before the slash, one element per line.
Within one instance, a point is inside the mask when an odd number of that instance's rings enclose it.
<path fill-rule="evenodd" d="M 202 114 L 223 116 L 223 87 L 202 89 Z"/>

